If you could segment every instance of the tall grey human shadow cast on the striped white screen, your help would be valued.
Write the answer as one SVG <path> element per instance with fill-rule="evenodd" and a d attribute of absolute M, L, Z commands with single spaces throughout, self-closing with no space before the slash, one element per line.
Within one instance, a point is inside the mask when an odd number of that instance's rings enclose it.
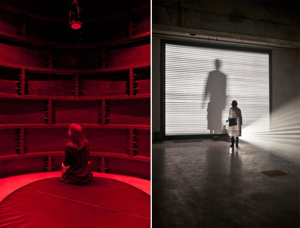
<path fill-rule="evenodd" d="M 221 132 L 222 111 L 226 104 L 226 75 L 219 70 L 220 60 L 216 59 L 215 65 L 216 70 L 208 74 L 204 94 L 204 100 L 210 94 L 210 101 L 207 105 L 207 129 L 211 134 Z"/>

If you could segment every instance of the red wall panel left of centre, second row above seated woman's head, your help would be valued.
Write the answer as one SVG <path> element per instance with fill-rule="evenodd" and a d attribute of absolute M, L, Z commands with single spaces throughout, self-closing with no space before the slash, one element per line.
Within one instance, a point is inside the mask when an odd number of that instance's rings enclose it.
<path fill-rule="evenodd" d="M 75 75 L 26 72 L 28 95 L 72 96 Z"/>

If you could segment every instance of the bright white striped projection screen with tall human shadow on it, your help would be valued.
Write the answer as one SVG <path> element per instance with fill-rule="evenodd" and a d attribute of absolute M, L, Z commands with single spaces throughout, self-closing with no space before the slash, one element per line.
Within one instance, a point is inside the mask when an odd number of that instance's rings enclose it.
<path fill-rule="evenodd" d="M 269 53 L 165 44 L 165 135 L 227 133 L 232 100 L 242 129 L 269 131 Z"/>

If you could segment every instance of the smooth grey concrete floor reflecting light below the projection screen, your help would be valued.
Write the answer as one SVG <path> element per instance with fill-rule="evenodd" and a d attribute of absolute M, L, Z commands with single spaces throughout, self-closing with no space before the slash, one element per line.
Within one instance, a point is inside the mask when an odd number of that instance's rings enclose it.
<path fill-rule="evenodd" d="M 242 140 L 233 150 L 211 139 L 152 146 L 153 227 L 299 227 L 299 151 Z M 288 175 L 261 173 L 270 170 Z"/>

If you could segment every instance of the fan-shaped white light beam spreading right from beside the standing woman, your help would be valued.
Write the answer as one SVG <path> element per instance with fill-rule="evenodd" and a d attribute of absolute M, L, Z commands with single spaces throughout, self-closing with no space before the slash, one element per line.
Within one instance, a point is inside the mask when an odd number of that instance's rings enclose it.
<path fill-rule="evenodd" d="M 286 155 L 300 156 L 300 101 L 293 99 L 270 114 L 270 130 L 264 125 L 268 116 L 249 124 L 242 129 L 242 140 L 264 149 L 283 152 Z"/>

